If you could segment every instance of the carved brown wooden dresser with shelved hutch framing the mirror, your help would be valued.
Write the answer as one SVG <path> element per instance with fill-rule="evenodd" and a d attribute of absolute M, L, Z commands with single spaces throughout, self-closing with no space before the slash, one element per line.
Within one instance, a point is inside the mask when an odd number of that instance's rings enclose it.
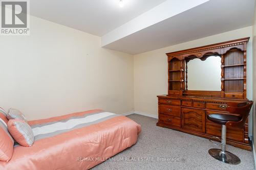
<path fill-rule="evenodd" d="M 168 57 L 168 95 L 158 95 L 157 126 L 171 128 L 205 138 L 221 136 L 221 125 L 207 119 L 207 114 L 226 111 L 228 102 L 246 98 L 246 45 L 248 38 L 166 54 Z M 188 90 L 187 62 L 205 60 L 209 55 L 221 57 L 221 91 Z M 202 74 L 207 74 L 205 70 Z M 186 74 L 185 74 L 186 73 Z M 200 75 L 198 75 L 200 76 Z M 198 83 L 204 83 L 204 80 Z M 230 113 L 229 113 L 230 114 Z M 251 150 L 248 119 L 243 128 L 227 128 L 227 143 Z"/>

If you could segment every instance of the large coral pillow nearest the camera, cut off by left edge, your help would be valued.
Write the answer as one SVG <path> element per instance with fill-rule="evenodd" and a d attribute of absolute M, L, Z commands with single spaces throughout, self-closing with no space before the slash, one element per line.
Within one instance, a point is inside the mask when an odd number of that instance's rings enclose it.
<path fill-rule="evenodd" d="M 0 161 L 8 162 L 12 158 L 14 140 L 8 132 L 8 127 L 0 118 Z"/>

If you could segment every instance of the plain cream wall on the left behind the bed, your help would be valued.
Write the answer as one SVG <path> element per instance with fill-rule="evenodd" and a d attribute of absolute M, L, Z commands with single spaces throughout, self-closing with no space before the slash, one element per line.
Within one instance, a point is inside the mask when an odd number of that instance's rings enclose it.
<path fill-rule="evenodd" d="M 28 119 L 134 110 L 133 57 L 100 37 L 31 16 L 30 36 L 1 36 L 0 105 Z"/>

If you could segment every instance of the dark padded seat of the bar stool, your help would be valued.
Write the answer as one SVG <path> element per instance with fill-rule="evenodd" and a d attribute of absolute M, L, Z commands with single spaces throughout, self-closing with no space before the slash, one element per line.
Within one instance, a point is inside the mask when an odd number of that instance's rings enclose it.
<path fill-rule="evenodd" d="M 241 117 L 232 114 L 208 114 L 207 118 L 220 125 L 225 125 L 228 121 L 239 122 L 241 120 Z"/>

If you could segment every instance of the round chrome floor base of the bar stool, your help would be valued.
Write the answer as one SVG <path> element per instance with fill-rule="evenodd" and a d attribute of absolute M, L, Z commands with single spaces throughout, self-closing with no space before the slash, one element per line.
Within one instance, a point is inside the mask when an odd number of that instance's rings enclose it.
<path fill-rule="evenodd" d="M 210 149 L 208 153 L 215 159 L 232 165 L 237 165 L 241 162 L 239 157 L 230 152 L 225 151 L 225 154 L 222 154 L 221 149 Z"/>

